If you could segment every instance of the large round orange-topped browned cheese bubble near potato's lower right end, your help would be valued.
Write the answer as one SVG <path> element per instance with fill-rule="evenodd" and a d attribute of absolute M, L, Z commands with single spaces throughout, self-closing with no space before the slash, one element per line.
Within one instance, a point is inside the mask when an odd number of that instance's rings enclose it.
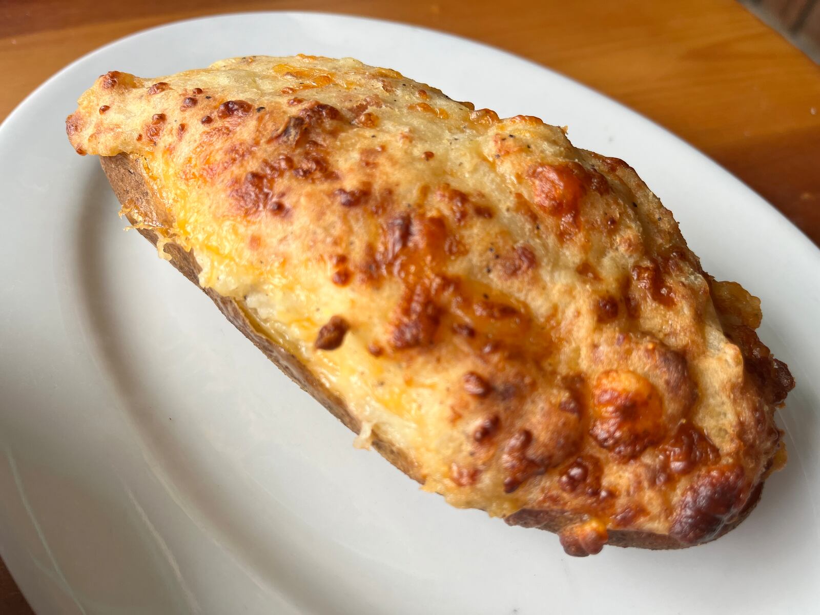
<path fill-rule="evenodd" d="M 634 371 L 599 374 L 592 389 L 590 435 L 604 449 L 634 458 L 664 435 L 663 406 L 649 380 Z"/>

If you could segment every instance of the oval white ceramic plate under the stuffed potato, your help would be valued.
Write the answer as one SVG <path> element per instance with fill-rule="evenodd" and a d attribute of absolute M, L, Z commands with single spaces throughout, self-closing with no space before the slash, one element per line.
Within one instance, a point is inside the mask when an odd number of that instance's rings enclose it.
<path fill-rule="evenodd" d="M 303 394 L 134 232 L 63 121 L 101 73 L 353 56 L 631 162 L 718 278 L 763 299 L 798 381 L 790 463 L 696 549 L 567 558 L 422 493 Z M 0 554 L 48 613 L 808 613 L 820 605 L 820 252 L 726 171 L 566 78 L 430 30 L 264 13 L 93 52 L 0 128 Z"/>

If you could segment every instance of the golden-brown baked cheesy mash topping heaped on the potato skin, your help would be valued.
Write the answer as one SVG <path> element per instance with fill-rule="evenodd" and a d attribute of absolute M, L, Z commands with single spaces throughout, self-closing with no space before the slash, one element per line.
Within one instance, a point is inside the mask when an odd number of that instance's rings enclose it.
<path fill-rule="evenodd" d="M 66 127 L 138 157 L 160 245 L 455 506 L 566 512 L 573 554 L 613 530 L 695 544 L 781 448 L 794 383 L 758 300 L 704 274 L 630 166 L 535 117 L 352 59 L 244 57 L 112 71 Z"/>

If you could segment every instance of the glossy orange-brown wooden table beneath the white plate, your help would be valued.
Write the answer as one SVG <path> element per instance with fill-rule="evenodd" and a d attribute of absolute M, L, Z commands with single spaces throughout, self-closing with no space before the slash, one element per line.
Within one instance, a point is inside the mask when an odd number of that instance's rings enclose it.
<path fill-rule="evenodd" d="M 820 244 L 820 69 L 734 0 L 2 0 L 0 119 L 93 48 L 227 10 L 383 17 L 531 58 L 681 135 Z M 30 613 L 2 563 L 0 613 Z"/>

